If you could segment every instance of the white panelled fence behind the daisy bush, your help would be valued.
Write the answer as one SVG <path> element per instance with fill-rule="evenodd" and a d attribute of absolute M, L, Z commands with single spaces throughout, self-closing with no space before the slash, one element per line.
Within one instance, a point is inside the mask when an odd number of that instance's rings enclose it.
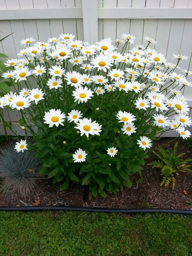
<path fill-rule="evenodd" d="M 46 41 L 73 33 L 79 40 L 94 43 L 130 33 L 137 44 L 143 42 L 143 36 L 154 38 L 158 42 L 154 48 L 169 62 L 173 53 L 188 55 L 179 66 L 192 70 L 192 0 L 0 0 L 0 38 L 12 32 L 0 43 L 0 52 L 10 58 L 17 58 L 20 40 L 30 36 Z M 192 87 L 186 88 L 184 95 L 192 107 Z M 13 127 L 22 134 L 19 113 L 5 115 L 10 115 Z"/>

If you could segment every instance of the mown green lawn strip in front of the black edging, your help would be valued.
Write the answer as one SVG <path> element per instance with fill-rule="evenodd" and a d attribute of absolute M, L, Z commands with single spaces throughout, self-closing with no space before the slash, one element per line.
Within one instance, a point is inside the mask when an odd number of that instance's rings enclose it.
<path fill-rule="evenodd" d="M 0 212 L 3 256 L 190 256 L 192 217 Z"/>

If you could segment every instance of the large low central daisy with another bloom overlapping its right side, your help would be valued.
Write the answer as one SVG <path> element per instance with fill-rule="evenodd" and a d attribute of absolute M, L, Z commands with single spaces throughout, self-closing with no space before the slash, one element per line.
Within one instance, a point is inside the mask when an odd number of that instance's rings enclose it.
<path fill-rule="evenodd" d="M 75 126 L 76 129 L 78 129 L 81 132 L 81 136 L 85 134 L 87 138 L 89 135 L 100 135 L 99 132 L 101 132 L 101 125 L 99 125 L 96 121 L 92 122 L 92 119 L 83 118 L 79 119 L 79 122 L 77 123 L 77 126 Z"/>

